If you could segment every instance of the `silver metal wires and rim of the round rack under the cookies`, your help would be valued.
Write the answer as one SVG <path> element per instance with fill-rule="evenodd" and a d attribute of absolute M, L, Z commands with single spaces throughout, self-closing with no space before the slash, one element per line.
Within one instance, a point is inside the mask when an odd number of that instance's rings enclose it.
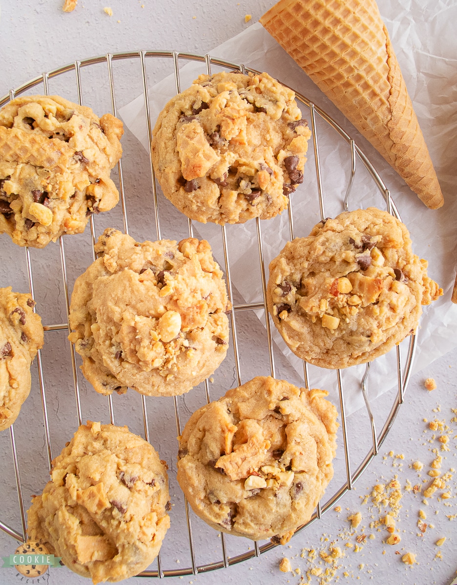
<path fill-rule="evenodd" d="M 36 77 L 33 80 L 30 80 L 26 84 L 21 85 L 20 87 L 16 88 L 15 90 L 11 90 L 8 95 L 5 95 L 2 99 L 0 99 L 0 106 L 5 105 L 8 101 L 15 98 L 17 95 L 22 94 L 32 88 L 42 85 L 43 93 L 45 95 L 49 95 L 49 82 L 53 80 L 54 77 L 66 74 L 66 73 L 74 73 L 75 80 L 76 80 L 76 90 L 78 101 L 80 105 L 83 104 L 83 91 L 82 91 L 82 81 L 81 81 L 81 68 L 91 67 L 96 64 L 105 64 L 107 67 L 108 73 L 108 80 L 109 80 L 109 92 L 110 92 L 110 99 L 111 99 L 111 110 L 114 116 L 117 115 L 117 106 L 115 100 L 115 82 L 114 82 L 114 74 L 113 74 L 113 61 L 118 60 L 132 60 L 135 63 L 139 61 L 139 68 L 141 69 L 141 80 L 142 80 L 142 87 L 143 87 L 143 95 L 144 95 L 144 107 L 146 112 L 146 125 L 147 125 L 147 134 L 148 134 L 148 142 L 151 144 L 151 132 L 152 132 L 152 125 L 153 121 L 151 120 L 151 113 L 149 108 L 149 100 L 150 100 L 150 88 L 148 85 L 148 76 L 146 71 L 146 66 L 148 61 L 151 59 L 167 59 L 170 60 L 173 66 L 173 75 L 175 78 L 175 89 L 176 92 L 180 91 L 180 67 L 179 65 L 184 62 L 189 61 L 196 61 L 202 63 L 202 67 L 205 68 L 206 73 L 212 73 L 212 67 L 223 67 L 228 69 L 235 69 L 240 70 L 242 73 L 247 73 L 248 71 L 253 71 L 253 73 L 258 73 L 257 71 L 250 70 L 243 65 L 238 65 L 236 63 L 231 63 L 230 61 L 224 61 L 221 59 L 216 59 L 214 57 L 210 57 L 209 55 L 206 56 L 199 56 L 190 53 L 178 53 L 176 51 L 134 51 L 134 52 L 124 52 L 124 53 L 115 53 L 115 54 L 107 54 L 104 56 L 94 57 L 91 59 L 86 59 L 83 61 L 76 61 L 75 63 L 68 64 L 64 67 L 60 67 L 49 71 L 47 73 L 43 73 L 39 77 Z M 366 168 L 369 172 L 371 179 L 376 184 L 377 190 L 380 194 L 380 197 L 383 199 L 384 203 L 387 206 L 387 211 L 400 218 L 398 214 L 397 208 L 393 200 L 391 199 L 390 192 L 387 190 L 386 185 L 384 185 L 381 177 L 378 175 L 377 171 L 374 169 L 370 161 L 367 159 L 366 155 L 361 151 L 359 146 L 351 139 L 347 133 L 340 128 L 339 125 L 332 118 L 330 118 L 322 109 L 318 108 L 315 104 L 309 101 L 306 97 L 301 94 L 296 93 L 297 101 L 309 110 L 309 117 L 310 117 L 310 126 L 312 132 L 312 143 L 313 143 L 313 153 L 314 153 L 314 160 L 315 160 L 315 173 L 316 173 L 316 182 L 318 188 L 318 199 L 319 199 L 319 212 L 320 218 L 324 219 L 325 214 L 325 201 L 323 197 L 323 182 L 322 182 L 322 169 L 320 164 L 320 152 L 319 152 L 319 132 L 318 132 L 318 125 L 316 121 L 320 119 L 321 121 L 325 122 L 332 130 L 336 132 L 336 134 L 340 137 L 340 139 L 344 140 L 350 147 L 350 156 L 351 156 L 351 171 L 350 171 L 350 180 L 349 184 L 346 188 L 346 195 L 344 200 L 344 206 L 347 210 L 349 208 L 349 200 L 350 200 L 350 192 L 352 189 L 352 184 L 354 180 L 354 175 L 356 173 L 356 161 L 360 161 L 361 164 Z M 90 104 L 93 107 L 93 104 Z M 149 147 L 150 148 L 150 147 Z M 151 154 L 149 150 L 149 154 Z M 151 161 L 151 157 L 149 157 Z M 309 163 L 308 163 L 309 164 Z M 152 166 L 152 162 L 150 162 L 150 174 L 151 174 L 151 184 L 152 184 L 152 196 L 153 196 L 153 203 L 154 203 L 154 222 L 155 222 L 155 231 L 156 231 L 156 239 L 162 238 L 162 229 L 161 229 L 161 218 L 159 216 L 159 194 L 158 187 L 156 185 L 155 180 L 155 173 L 154 168 Z M 127 205 L 126 205 L 126 198 L 125 198 L 125 189 L 124 189 L 124 173 L 122 170 L 122 159 L 118 163 L 118 187 L 120 190 L 120 199 L 121 199 L 121 208 L 122 208 L 122 222 L 124 226 L 124 232 L 129 233 L 128 228 L 128 216 L 127 216 Z M 288 226 L 289 226 L 289 236 L 290 239 L 294 239 L 295 237 L 295 230 L 294 230 L 294 213 L 293 213 L 293 206 L 294 204 L 291 202 L 288 208 Z M 237 384 L 241 384 L 241 356 L 240 356 L 240 349 L 238 348 L 238 335 L 237 335 L 237 318 L 240 312 L 243 311 L 256 311 L 258 309 L 263 309 L 264 315 L 267 317 L 265 318 L 264 326 L 267 332 L 267 346 L 268 346 L 268 357 L 270 362 L 270 374 L 271 376 L 275 376 L 276 369 L 275 369 L 275 346 L 274 340 L 272 337 L 271 331 L 271 322 L 270 317 L 268 316 L 266 299 L 265 299 L 265 290 L 267 284 L 267 276 L 265 270 L 265 258 L 264 258 L 264 249 L 263 249 L 263 238 L 262 238 L 262 222 L 257 219 L 256 223 L 256 232 L 257 232 L 257 242 L 253 242 L 253 245 L 257 245 L 258 247 L 258 261 L 260 264 L 260 274 L 261 274 L 261 288 L 263 292 L 263 301 L 262 302 L 250 302 L 250 303 L 236 303 L 234 302 L 234 291 L 233 291 L 233 279 L 231 277 L 231 262 L 230 262 L 230 253 L 228 249 L 228 241 L 227 241 L 227 229 L 225 226 L 221 226 L 221 241 L 223 244 L 223 253 L 224 253 L 224 266 L 223 269 L 226 273 L 226 282 L 227 282 L 227 289 L 228 289 L 228 297 L 233 304 L 233 311 L 231 312 L 231 347 L 233 348 L 233 360 L 234 360 L 234 370 L 235 370 L 235 377 Z M 189 219 L 188 220 L 188 232 L 189 236 L 193 237 L 194 233 L 194 225 L 193 222 Z M 97 241 L 96 237 L 96 226 L 94 225 L 94 216 L 90 218 L 90 233 L 91 233 L 91 242 L 92 242 L 92 255 L 93 260 L 96 259 L 96 254 L 94 252 L 93 246 Z M 72 236 L 70 236 L 72 237 Z M 67 321 L 62 322 L 59 324 L 45 324 L 44 329 L 45 332 L 48 334 L 49 332 L 53 331 L 67 331 L 70 332 L 69 329 L 69 305 L 70 305 L 70 291 L 69 291 L 69 276 L 67 273 L 67 256 L 65 250 L 65 242 L 66 238 L 61 237 L 59 239 L 59 246 L 60 246 L 60 261 L 62 264 L 62 283 L 64 289 L 64 300 L 66 304 L 66 314 L 67 314 Z M 35 286 L 33 280 L 33 267 L 32 267 L 32 259 L 30 256 L 30 250 L 28 248 L 25 249 L 26 255 L 26 266 L 27 266 L 27 273 L 28 273 L 28 280 L 30 286 L 30 292 L 33 297 L 35 297 Z M 387 433 L 390 430 L 391 425 L 393 424 L 394 418 L 397 415 L 398 408 L 400 408 L 401 403 L 403 402 L 404 391 L 408 384 L 408 379 L 410 377 L 411 371 L 411 364 L 414 358 L 414 349 L 416 343 L 416 336 L 411 335 L 408 340 L 404 342 L 407 344 L 407 351 L 406 357 L 404 359 L 404 364 L 402 363 L 402 353 L 400 346 L 397 346 L 397 368 L 396 368 L 396 376 L 397 376 L 397 392 L 395 394 L 395 398 L 393 404 L 391 404 L 390 412 L 384 421 L 384 424 L 380 431 L 377 431 L 375 425 L 375 419 L 373 416 L 373 412 L 370 406 L 369 396 L 367 393 L 367 377 L 370 371 L 370 363 L 366 364 L 366 370 L 364 372 L 363 378 L 360 381 L 361 393 L 363 394 L 364 403 L 366 405 L 366 413 L 367 417 L 370 421 L 370 429 L 371 429 L 371 439 L 372 444 L 370 445 L 369 450 L 367 451 L 366 455 L 363 457 L 359 465 L 357 466 L 356 470 L 352 470 L 351 460 L 350 460 L 350 445 L 348 439 L 348 420 L 346 416 L 346 405 L 345 405 L 345 395 L 344 395 L 344 388 L 343 388 L 343 380 L 342 374 L 340 370 L 336 370 L 336 378 L 337 378 L 337 388 L 338 388 L 338 395 L 339 395 L 339 403 L 340 403 L 340 414 L 341 414 L 341 425 L 342 425 L 342 435 L 343 435 L 343 449 L 344 449 L 344 457 L 345 457 L 345 468 L 346 468 L 346 477 L 343 480 L 342 485 L 337 488 L 332 495 L 328 497 L 325 504 L 318 505 L 315 513 L 313 514 L 312 519 L 308 522 L 314 522 L 316 519 L 320 518 L 322 514 L 324 514 L 329 508 L 331 508 L 335 503 L 348 491 L 351 490 L 354 483 L 359 479 L 361 474 L 363 474 L 366 467 L 370 464 L 371 460 L 374 456 L 377 455 L 381 444 L 383 443 L 384 439 L 387 436 Z M 80 395 L 80 381 L 77 372 L 77 357 L 74 350 L 74 346 L 69 345 L 69 351 L 71 353 L 71 370 L 73 373 L 73 386 L 74 386 L 74 398 L 75 398 L 75 406 L 76 406 L 76 418 L 78 424 L 82 424 L 83 422 L 83 415 L 81 410 L 81 395 Z M 405 353 L 405 352 L 404 352 Z M 40 396 L 41 396 L 41 403 L 42 403 L 42 414 L 43 414 L 43 426 L 44 426 L 44 440 L 46 445 L 46 456 L 47 456 L 47 463 L 49 465 L 49 469 L 51 467 L 51 462 L 55 453 L 53 453 L 52 442 L 51 442 L 51 433 L 50 433 L 50 422 L 49 422 L 49 414 L 48 414 L 48 407 L 46 401 L 46 381 L 45 375 L 43 373 L 43 362 L 42 362 L 42 355 L 41 352 L 38 352 L 37 355 L 37 370 L 38 370 L 38 378 L 39 378 L 39 386 L 40 386 Z M 309 386 L 309 372 L 308 372 L 308 364 L 303 362 L 303 377 L 305 380 L 305 386 Z M 204 381 L 204 394 L 205 399 L 207 402 L 211 400 L 210 398 L 210 390 L 209 390 L 209 383 L 208 380 Z M 173 399 L 173 407 L 175 411 L 175 419 L 176 419 L 176 431 L 178 435 L 181 433 L 182 423 L 181 419 L 182 416 L 180 414 L 179 408 L 179 401 L 177 397 Z M 107 398 L 108 401 L 108 409 L 110 413 L 110 422 L 111 424 L 115 424 L 115 412 L 114 412 L 114 404 L 112 401 L 112 397 L 109 396 Z M 144 395 L 141 395 L 141 408 L 142 408 L 142 417 L 144 422 L 144 436 L 147 441 L 150 441 L 150 433 L 149 433 L 149 425 L 148 425 L 148 410 L 147 410 L 147 403 L 146 398 Z M 12 448 L 12 459 L 13 459 L 13 466 L 15 470 L 15 478 L 16 478 L 16 487 L 18 491 L 18 502 L 19 502 L 19 510 L 21 515 L 21 528 L 13 529 L 10 526 L 4 524 L 4 522 L 0 521 L 0 529 L 6 532 L 6 534 L 12 536 L 12 538 L 17 539 L 18 541 L 25 541 L 26 540 L 26 514 L 25 514 L 25 506 L 24 506 L 24 498 L 22 493 L 22 486 L 21 486 L 21 473 L 20 473 L 20 460 L 21 457 L 18 453 L 18 448 L 16 445 L 16 438 L 14 432 L 14 425 L 11 426 L 10 429 L 10 438 L 11 438 L 11 448 Z M 334 480 L 335 481 L 335 480 Z M 214 562 L 210 563 L 197 563 L 197 555 L 195 552 L 195 543 L 193 539 L 193 531 L 192 531 L 192 522 L 193 519 L 191 517 L 191 512 L 189 510 L 189 504 L 185 501 L 185 515 L 186 515 L 186 524 L 187 524 L 187 541 L 189 545 L 189 553 L 190 553 L 190 567 L 186 567 L 184 569 L 179 570 L 164 570 L 163 563 L 161 560 L 161 556 L 159 555 L 157 560 L 157 569 L 156 570 L 147 570 L 144 573 L 141 573 L 142 576 L 148 577 L 164 577 L 164 576 L 183 576 L 187 574 L 197 574 L 202 572 L 207 572 L 213 569 L 219 569 L 222 567 L 228 567 L 229 565 L 233 565 L 234 563 L 241 562 L 243 560 L 247 560 L 252 558 L 253 556 L 259 556 L 261 553 L 274 548 L 271 542 L 265 543 L 264 545 L 259 545 L 259 543 L 255 542 L 254 549 L 248 549 L 247 552 L 241 553 L 239 555 L 233 556 L 229 558 L 227 553 L 227 546 L 226 546 L 226 536 L 221 533 L 220 534 L 220 543 L 221 543 L 221 558 L 215 560 Z M 302 531 L 306 525 L 301 526 L 297 532 Z M 250 541 L 249 541 L 250 542 Z"/>

